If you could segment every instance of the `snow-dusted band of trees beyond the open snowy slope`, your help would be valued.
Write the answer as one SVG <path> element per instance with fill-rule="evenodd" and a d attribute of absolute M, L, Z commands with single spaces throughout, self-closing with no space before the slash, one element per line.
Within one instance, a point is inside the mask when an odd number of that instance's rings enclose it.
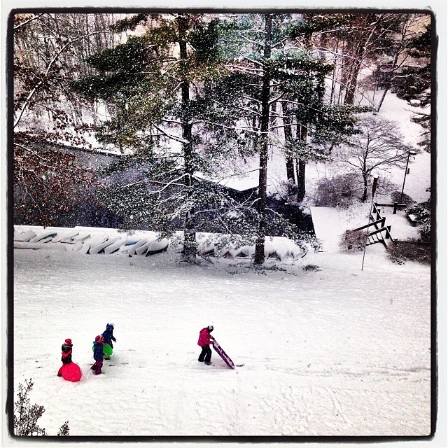
<path fill-rule="evenodd" d="M 269 151 L 283 155 L 300 203 L 307 163 L 363 148 L 388 90 L 430 104 L 425 14 L 20 14 L 13 34 L 15 213 L 44 211 L 44 222 L 95 186 L 126 228 L 183 230 L 187 260 L 197 230 L 255 244 L 257 265 L 265 235 L 303 244 L 309 236 L 267 207 Z M 429 118 L 416 117 L 426 148 Z M 395 159 L 375 158 L 400 162 L 407 146 L 380 129 Z M 89 135 L 123 156 L 94 172 L 42 148 L 88 148 Z M 244 174 L 248 157 L 258 158 L 258 192 L 241 202 L 211 181 Z M 373 168 L 357 167 L 363 200 Z"/>

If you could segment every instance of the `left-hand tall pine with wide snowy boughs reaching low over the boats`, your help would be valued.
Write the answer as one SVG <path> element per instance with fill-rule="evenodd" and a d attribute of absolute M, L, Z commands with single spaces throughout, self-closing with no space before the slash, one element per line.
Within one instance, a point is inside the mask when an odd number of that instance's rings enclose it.
<path fill-rule="evenodd" d="M 253 209 L 241 207 L 209 179 L 232 169 L 244 153 L 232 108 L 220 101 L 228 72 L 218 45 L 218 20 L 211 15 L 142 14 L 117 27 L 146 31 L 88 59 L 97 71 L 73 89 L 113 107 L 97 138 L 123 152 L 99 199 L 143 226 L 171 235 L 183 230 L 183 255 L 197 253 L 198 230 L 248 234 Z M 113 171 L 139 169 L 136 179 L 113 181 Z M 236 216 L 236 218 L 235 218 Z"/>

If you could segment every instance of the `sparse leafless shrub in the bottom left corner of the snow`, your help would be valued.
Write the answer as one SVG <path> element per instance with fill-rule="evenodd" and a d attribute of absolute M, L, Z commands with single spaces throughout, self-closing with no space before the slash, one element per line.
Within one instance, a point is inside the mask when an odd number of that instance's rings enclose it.
<path fill-rule="evenodd" d="M 14 403 L 14 432 L 15 435 L 47 435 L 45 428 L 38 426 L 37 421 L 45 412 L 45 407 L 41 405 L 30 405 L 28 394 L 33 389 L 31 378 L 25 379 L 25 386 L 19 384 L 18 400 Z M 69 435 L 69 422 L 66 421 L 60 428 L 57 435 Z"/>

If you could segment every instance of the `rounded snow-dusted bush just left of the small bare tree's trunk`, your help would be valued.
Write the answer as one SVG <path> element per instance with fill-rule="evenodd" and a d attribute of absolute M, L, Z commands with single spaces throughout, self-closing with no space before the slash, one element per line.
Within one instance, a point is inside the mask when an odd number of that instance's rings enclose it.
<path fill-rule="evenodd" d="M 353 204 L 360 187 L 357 174 L 345 173 L 332 177 L 325 177 L 318 182 L 316 205 L 318 207 L 348 208 Z"/>

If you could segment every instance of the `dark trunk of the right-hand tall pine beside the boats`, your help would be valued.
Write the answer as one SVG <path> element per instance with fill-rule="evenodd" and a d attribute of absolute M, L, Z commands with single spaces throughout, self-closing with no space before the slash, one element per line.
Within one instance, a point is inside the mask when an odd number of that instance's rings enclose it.
<path fill-rule="evenodd" d="M 272 39 L 272 15 L 265 14 L 265 48 L 263 57 L 265 60 L 271 57 Z M 266 235 L 266 193 L 267 193 L 267 131 L 269 127 L 269 73 L 264 71 L 261 91 L 261 125 L 260 136 L 262 139 L 260 148 L 260 175 L 258 181 L 258 214 L 260 223 L 258 225 L 257 241 L 255 244 L 255 265 L 265 262 L 265 235 Z"/>

